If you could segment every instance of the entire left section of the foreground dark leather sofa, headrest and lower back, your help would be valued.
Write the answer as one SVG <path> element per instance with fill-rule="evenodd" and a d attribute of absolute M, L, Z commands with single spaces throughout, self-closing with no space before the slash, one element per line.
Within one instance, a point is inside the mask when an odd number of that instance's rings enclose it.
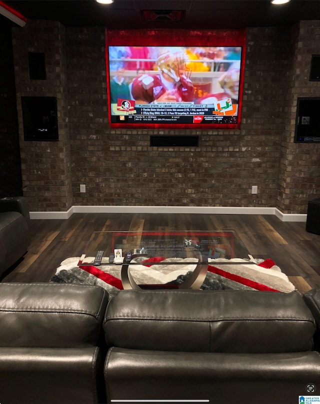
<path fill-rule="evenodd" d="M 105 402 L 98 286 L 0 283 L 1 404 Z"/>

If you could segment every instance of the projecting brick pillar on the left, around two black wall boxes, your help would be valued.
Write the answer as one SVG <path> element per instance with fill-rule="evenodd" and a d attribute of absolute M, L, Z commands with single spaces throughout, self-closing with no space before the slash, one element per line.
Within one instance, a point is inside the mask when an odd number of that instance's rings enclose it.
<path fill-rule="evenodd" d="M 56 21 L 30 21 L 12 33 L 22 182 L 31 210 L 72 205 L 65 30 Z M 45 56 L 46 79 L 29 78 L 28 52 Z M 57 98 L 58 142 L 24 141 L 21 96 Z"/>

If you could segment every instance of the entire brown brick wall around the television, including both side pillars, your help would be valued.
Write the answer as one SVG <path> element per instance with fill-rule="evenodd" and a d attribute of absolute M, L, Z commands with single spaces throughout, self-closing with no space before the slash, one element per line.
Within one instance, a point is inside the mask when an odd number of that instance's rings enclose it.
<path fill-rule="evenodd" d="M 316 53 L 310 37 L 317 29 L 315 21 L 248 29 L 241 128 L 184 131 L 109 128 L 104 28 L 28 21 L 14 29 L 22 178 L 31 210 L 276 206 L 305 213 L 317 192 L 319 146 L 293 143 L 295 101 L 305 88 L 320 94 L 318 83 L 301 73 Z M 27 78 L 27 51 L 45 53 L 45 82 Z M 19 97 L 30 93 L 57 96 L 58 142 L 22 140 Z M 150 134 L 182 133 L 198 134 L 199 147 L 149 146 Z M 86 193 L 79 192 L 80 183 Z M 251 185 L 258 186 L 256 195 Z"/>

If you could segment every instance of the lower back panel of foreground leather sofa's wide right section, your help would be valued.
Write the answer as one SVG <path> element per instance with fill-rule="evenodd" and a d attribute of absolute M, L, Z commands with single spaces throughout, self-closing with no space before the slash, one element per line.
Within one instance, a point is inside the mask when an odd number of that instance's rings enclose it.
<path fill-rule="evenodd" d="M 319 379 L 320 355 L 314 351 L 204 353 L 113 347 L 104 374 L 110 401 L 173 402 L 187 397 L 214 404 L 292 404 L 310 380 Z"/>

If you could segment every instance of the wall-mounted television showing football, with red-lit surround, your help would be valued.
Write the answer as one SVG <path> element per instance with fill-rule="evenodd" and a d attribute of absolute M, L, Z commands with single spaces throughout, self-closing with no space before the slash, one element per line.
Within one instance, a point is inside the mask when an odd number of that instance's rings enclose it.
<path fill-rule="evenodd" d="M 244 34 L 230 32 L 231 38 L 203 32 L 196 41 L 173 34 L 169 42 L 163 32 L 152 40 L 147 32 L 133 40 L 111 35 L 106 43 L 110 126 L 239 128 Z"/>

